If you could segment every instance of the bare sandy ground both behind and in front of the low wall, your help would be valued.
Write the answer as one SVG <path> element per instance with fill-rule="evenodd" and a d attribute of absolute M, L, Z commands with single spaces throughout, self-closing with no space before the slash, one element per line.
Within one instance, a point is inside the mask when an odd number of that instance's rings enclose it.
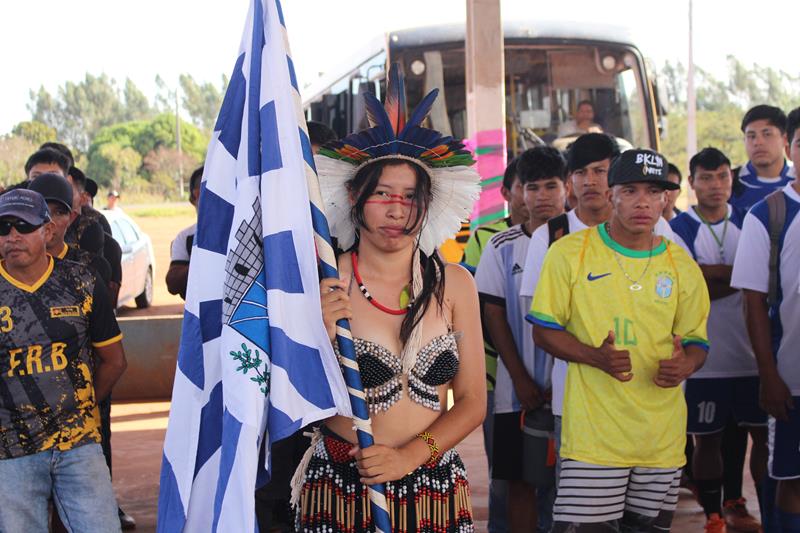
<path fill-rule="evenodd" d="M 153 240 L 156 256 L 155 305 L 150 309 L 125 308 L 120 316 L 155 316 L 180 314 L 182 300 L 170 295 L 164 284 L 169 266 L 170 243 L 184 227 L 193 223 L 189 216 L 136 217 L 134 219 Z M 169 416 L 169 402 L 118 403 L 112 408 L 114 488 L 119 504 L 137 522 L 137 531 L 155 531 L 158 504 L 159 472 L 164 433 Z M 480 428 L 459 446 L 467 466 L 476 518 L 476 530 L 486 531 L 488 517 L 488 471 Z M 758 505 L 749 472 L 745 473 L 745 497 L 750 511 L 757 515 Z M 703 531 L 702 510 L 688 492 L 682 492 L 672 531 Z"/>

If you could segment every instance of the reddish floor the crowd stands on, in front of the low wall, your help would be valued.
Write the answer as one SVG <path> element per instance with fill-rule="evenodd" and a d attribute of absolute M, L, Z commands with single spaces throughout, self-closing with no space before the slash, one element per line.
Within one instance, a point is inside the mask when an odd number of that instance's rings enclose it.
<path fill-rule="evenodd" d="M 155 531 L 161 449 L 167 427 L 169 402 L 115 404 L 112 409 L 114 488 L 120 505 L 139 523 L 136 531 Z M 472 487 L 477 531 L 486 531 L 488 479 L 480 430 L 458 446 Z M 755 493 L 746 474 L 745 495 L 755 504 Z M 691 496 L 681 495 L 672 531 L 703 531 L 703 513 Z"/>

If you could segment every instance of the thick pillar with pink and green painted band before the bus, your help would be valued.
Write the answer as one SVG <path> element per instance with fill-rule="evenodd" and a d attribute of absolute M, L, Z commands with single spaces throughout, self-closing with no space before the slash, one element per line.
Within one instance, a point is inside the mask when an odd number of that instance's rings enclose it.
<path fill-rule="evenodd" d="M 481 176 L 470 225 L 506 216 L 500 194 L 506 167 L 505 62 L 500 0 L 467 0 L 465 42 L 467 129 Z"/>

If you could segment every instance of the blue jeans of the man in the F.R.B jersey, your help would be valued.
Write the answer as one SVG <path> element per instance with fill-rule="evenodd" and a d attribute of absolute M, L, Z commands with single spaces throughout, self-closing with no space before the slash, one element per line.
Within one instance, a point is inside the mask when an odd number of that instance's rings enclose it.
<path fill-rule="evenodd" d="M 47 533 L 51 497 L 70 533 L 120 531 L 99 444 L 0 459 L 0 531 Z"/>

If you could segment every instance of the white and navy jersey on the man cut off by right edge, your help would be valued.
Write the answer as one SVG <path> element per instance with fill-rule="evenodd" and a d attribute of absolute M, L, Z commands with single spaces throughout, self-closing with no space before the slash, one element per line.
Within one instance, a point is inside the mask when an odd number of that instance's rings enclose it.
<path fill-rule="evenodd" d="M 792 396 L 800 396 L 800 195 L 791 184 L 783 188 L 783 194 L 786 222 L 778 263 L 780 291 L 778 304 L 770 310 L 770 317 L 773 347 L 777 347 L 778 373 Z M 756 203 L 747 213 L 739 246 L 743 253 L 736 255 L 731 285 L 737 289 L 768 293 L 769 208 L 765 200 Z"/>

